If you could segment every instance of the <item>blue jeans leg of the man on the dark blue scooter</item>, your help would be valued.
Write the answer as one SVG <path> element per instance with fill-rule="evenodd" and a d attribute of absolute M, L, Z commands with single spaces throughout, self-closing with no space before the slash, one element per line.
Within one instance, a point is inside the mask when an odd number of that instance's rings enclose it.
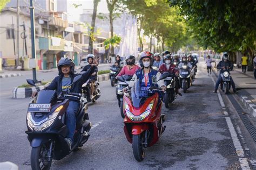
<path fill-rule="evenodd" d="M 78 102 L 69 101 L 69 107 L 66 109 L 66 126 L 68 128 L 68 134 L 66 137 L 70 138 L 72 141 L 76 130 L 76 113 L 78 109 Z"/>

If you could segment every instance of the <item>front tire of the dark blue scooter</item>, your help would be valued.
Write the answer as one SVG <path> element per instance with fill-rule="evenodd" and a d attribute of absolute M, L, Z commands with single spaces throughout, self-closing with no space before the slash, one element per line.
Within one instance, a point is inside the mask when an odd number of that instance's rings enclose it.
<path fill-rule="evenodd" d="M 52 161 L 42 161 L 43 159 L 48 159 L 48 152 L 44 152 L 43 150 L 49 148 L 46 148 L 44 145 L 38 146 L 38 147 L 32 147 L 31 150 L 31 156 L 30 156 L 30 164 L 31 164 L 31 169 L 35 170 L 48 170 L 51 167 L 51 162 Z M 43 153 L 46 153 L 45 155 L 42 155 Z M 42 159 L 43 157 L 43 159 Z M 46 157 L 46 158 L 45 158 Z"/>

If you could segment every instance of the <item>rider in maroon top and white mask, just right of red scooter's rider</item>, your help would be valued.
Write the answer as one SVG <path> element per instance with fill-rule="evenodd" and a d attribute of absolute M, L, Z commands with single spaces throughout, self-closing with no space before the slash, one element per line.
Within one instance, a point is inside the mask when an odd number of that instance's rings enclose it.
<path fill-rule="evenodd" d="M 180 88 L 179 79 L 178 79 L 179 70 L 176 69 L 176 65 L 174 65 L 174 63 L 171 61 L 171 55 L 170 54 L 167 54 L 165 56 L 165 63 L 160 66 L 159 72 L 160 73 L 170 72 L 170 73 L 174 73 L 176 75 L 177 79 L 175 79 L 175 80 L 176 80 L 177 86 L 175 87 L 175 92 L 176 92 L 176 94 L 182 96 L 181 93 L 179 93 L 179 88 Z"/>

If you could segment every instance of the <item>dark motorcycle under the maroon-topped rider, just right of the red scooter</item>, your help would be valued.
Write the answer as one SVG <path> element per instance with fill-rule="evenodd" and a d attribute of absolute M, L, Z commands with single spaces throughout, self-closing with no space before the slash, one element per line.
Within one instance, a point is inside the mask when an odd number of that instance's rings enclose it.
<path fill-rule="evenodd" d="M 165 72 L 165 73 L 168 74 L 168 77 L 164 79 L 164 83 L 166 86 L 166 92 L 164 94 L 164 103 L 165 103 L 165 108 L 169 108 L 169 104 L 171 104 L 176 98 L 175 88 L 177 86 L 176 84 L 177 77 L 175 76 L 174 73 L 169 73 L 169 72 Z"/>

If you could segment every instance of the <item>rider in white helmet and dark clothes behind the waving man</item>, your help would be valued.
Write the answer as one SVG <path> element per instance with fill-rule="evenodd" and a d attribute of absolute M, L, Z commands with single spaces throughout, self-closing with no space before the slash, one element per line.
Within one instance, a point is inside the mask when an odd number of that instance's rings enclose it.
<path fill-rule="evenodd" d="M 87 55 L 87 61 L 88 61 L 89 65 L 84 66 L 84 68 L 82 69 L 81 72 L 86 72 L 88 69 L 91 68 L 94 58 L 95 58 L 95 55 L 93 55 L 93 54 Z M 93 87 L 94 87 L 95 82 L 97 81 L 97 72 L 98 72 L 98 68 L 96 67 L 95 71 L 92 73 L 92 75 L 90 77 L 90 82 L 89 82 L 89 83 L 91 83 L 90 98 L 93 97 Z"/>

